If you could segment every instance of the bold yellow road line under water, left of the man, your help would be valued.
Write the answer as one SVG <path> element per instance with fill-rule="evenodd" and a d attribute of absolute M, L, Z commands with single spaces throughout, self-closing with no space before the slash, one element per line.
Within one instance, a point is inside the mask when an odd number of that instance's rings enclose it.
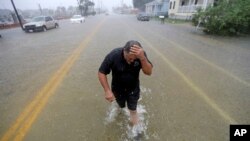
<path fill-rule="evenodd" d="M 99 30 L 104 21 L 100 22 L 96 28 L 90 33 L 90 35 L 83 40 L 78 48 L 76 48 L 70 57 L 64 62 L 60 69 L 50 78 L 45 86 L 37 93 L 32 102 L 24 109 L 24 111 L 18 116 L 14 124 L 3 135 L 0 141 L 8 141 L 14 137 L 15 141 L 21 141 L 29 131 L 30 127 L 41 113 L 42 109 L 48 102 L 48 99 L 54 94 L 63 78 L 69 72 L 75 61 L 79 58 L 83 49 L 91 41 L 93 36 Z"/>

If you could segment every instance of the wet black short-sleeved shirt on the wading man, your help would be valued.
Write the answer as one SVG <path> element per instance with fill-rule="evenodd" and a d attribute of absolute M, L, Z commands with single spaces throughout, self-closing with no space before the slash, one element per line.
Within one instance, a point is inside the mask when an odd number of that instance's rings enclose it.
<path fill-rule="evenodd" d="M 146 54 L 145 54 L 146 56 Z M 102 62 L 99 72 L 109 74 L 112 71 L 112 90 L 133 91 L 139 89 L 141 62 L 136 59 L 128 64 L 123 56 L 123 48 L 112 50 Z"/>

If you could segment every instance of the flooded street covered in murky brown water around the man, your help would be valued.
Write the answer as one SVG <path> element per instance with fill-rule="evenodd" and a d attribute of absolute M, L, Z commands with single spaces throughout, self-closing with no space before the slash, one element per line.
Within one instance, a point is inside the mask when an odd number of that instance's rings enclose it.
<path fill-rule="evenodd" d="M 59 24 L 0 31 L 1 141 L 225 141 L 230 124 L 250 124 L 249 37 L 127 15 Z M 151 76 L 140 75 L 139 139 L 97 79 L 105 55 L 131 39 L 154 65 Z"/>

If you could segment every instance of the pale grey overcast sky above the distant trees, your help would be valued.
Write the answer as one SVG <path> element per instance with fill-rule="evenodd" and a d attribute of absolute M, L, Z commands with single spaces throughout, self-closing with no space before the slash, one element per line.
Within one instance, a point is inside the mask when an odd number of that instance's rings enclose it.
<path fill-rule="evenodd" d="M 13 0 L 18 9 L 38 9 L 38 4 L 42 8 L 55 9 L 57 6 L 77 6 L 77 0 Z M 122 3 L 132 6 L 132 0 L 91 0 L 95 3 L 95 7 L 104 7 L 110 9 L 120 6 Z M 0 0 L 0 9 L 13 9 L 11 0 Z"/>

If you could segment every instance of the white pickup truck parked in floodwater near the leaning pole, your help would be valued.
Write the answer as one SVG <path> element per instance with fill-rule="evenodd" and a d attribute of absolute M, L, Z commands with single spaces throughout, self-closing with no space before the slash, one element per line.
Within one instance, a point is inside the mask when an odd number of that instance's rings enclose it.
<path fill-rule="evenodd" d="M 47 31 L 48 29 L 57 28 L 59 24 L 51 16 L 34 17 L 31 22 L 23 25 L 25 32 Z"/>

